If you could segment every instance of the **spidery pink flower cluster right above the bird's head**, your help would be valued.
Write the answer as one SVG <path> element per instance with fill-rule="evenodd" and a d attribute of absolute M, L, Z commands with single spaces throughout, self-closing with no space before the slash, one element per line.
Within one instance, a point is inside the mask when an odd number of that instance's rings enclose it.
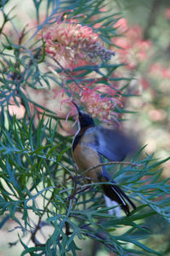
<path fill-rule="evenodd" d="M 105 84 L 95 85 L 94 82 L 88 85 L 80 84 L 79 87 L 77 87 L 77 84 L 71 83 L 69 93 L 71 94 L 72 99 L 78 99 L 79 96 L 81 106 L 85 107 L 93 118 L 98 117 L 105 122 L 112 122 L 114 120 L 118 123 L 116 106 L 119 106 L 120 108 L 122 107 L 121 92 Z M 94 86 L 92 87 L 92 85 Z M 61 104 L 66 102 L 71 108 L 66 119 L 68 119 L 69 116 L 77 116 L 77 109 L 71 103 L 69 97 L 65 98 L 63 92 L 64 90 L 59 90 L 55 92 L 55 96 L 58 96 L 59 93 L 61 93 L 63 96 Z"/>

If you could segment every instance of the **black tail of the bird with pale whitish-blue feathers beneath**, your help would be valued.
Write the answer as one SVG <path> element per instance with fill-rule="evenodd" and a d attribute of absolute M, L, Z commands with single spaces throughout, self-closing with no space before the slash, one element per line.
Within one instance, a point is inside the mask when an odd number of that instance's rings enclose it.
<path fill-rule="evenodd" d="M 129 205 L 133 207 L 134 210 L 136 209 L 133 201 L 131 201 L 124 193 L 124 191 L 119 188 L 115 183 L 102 184 L 101 187 L 105 193 L 105 196 L 108 197 L 111 201 L 115 201 L 122 208 L 122 211 L 127 214 L 127 216 L 130 214 Z M 111 201 L 107 200 L 106 197 L 105 201 L 106 203 L 108 202 L 107 206 L 114 206 L 115 204 L 111 204 Z"/>

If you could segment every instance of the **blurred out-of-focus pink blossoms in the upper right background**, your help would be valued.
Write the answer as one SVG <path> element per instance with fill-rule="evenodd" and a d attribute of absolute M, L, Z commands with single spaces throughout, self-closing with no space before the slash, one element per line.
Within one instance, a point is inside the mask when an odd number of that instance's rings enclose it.
<path fill-rule="evenodd" d="M 169 19 L 169 10 L 165 9 L 164 15 Z M 123 36 L 114 38 L 113 42 L 120 49 L 117 49 L 119 59 L 126 64 L 122 75 L 138 73 L 139 83 L 143 89 L 151 87 L 150 79 L 169 79 L 170 68 L 165 67 L 159 61 L 153 63 L 153 56 L 156 55 L 155 45 L 150 40 L 144 40 L 144 32 L 140 26 L 128 26 L 127 20 L 122 18 L 116 23 L 118 32 Z M 138 71 L 138 72 L 137 72 Z M 119 74 L 120 75 L 120 74 Z M 138 90 L 134 89 L 135 93 Z"/>

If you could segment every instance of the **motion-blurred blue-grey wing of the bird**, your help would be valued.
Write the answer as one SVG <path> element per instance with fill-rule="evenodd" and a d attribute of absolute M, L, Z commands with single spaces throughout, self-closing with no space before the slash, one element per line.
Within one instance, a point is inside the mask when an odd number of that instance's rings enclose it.
<path fill-rule="evenodd" d="M 96 148 L 99 154 L 113 161 L 123 160 L 127 154 L 136 149 L 132 137 L 127 137 L 122 131 L 106 129 L 98 126 L 96 129 Z"/>

